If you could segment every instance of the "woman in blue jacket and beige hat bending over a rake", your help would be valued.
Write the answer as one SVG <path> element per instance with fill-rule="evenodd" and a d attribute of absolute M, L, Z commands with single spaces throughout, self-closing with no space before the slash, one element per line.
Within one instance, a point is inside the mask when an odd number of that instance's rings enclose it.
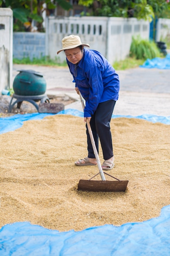
<path fill-rule="evenodd" d="M 79 36 L 66 36 L 62 39 L 62 49 L 57 54 L 61 51 L 66 54 L 75 90 L 86 101 L 84 122 L 86 119 L 90 121 L 97 152 L 100 139 L 104 157 L 102 169 L 111 170 L 114 167 L 114 155 L 110 120 L 119 95 L 119 76 L 102 54 L 84 46 L 90 47 L 82 43 Z M 78 166 L 97 164 L 87 126 L 86 134 L 88 157 L 76 161 L 75 165 Z"/>

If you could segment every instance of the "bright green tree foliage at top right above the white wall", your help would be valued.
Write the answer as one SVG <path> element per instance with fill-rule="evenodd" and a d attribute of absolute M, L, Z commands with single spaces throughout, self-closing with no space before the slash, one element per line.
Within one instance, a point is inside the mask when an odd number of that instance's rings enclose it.
<path fill-rule="evenodd" d="M 79 0 L 80 5 L 91 7 L 93 16 L 110 16 L 152 20 L 164 18 L 170 11 L 169 0 Z"/>

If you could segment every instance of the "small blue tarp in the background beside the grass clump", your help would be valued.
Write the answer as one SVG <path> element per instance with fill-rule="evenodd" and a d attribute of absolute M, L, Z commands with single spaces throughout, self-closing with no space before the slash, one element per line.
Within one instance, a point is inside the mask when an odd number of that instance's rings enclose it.
<path fill-rule="evenodd" d="M 167 54 L 165 58 L 149 58 L 140 67 L 145 68 L 159 68 L 159 69 L 170 69 L 170 54 Z"/>

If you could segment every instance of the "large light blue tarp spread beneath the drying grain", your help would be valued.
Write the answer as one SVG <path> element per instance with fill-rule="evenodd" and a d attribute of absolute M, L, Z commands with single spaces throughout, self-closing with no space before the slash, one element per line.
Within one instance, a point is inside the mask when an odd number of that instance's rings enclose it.
<path fill-rule="evenodd" d="M 83 117 L 78 110 L 58 114 Z M 26 114 L 0 118 L 0 133 L 22 126 L 26 120 L 42 119 L 51 114 Z M 139 118 L 170 124 L 170 117 L 156 115 L 112 116 Z M 82 231 L 59 232 L 29 222 L 15 222 L 0 229 L 0 256 L 169 256 L 170 205 L 158 218 L 120 227 L 104 225 Z"/>

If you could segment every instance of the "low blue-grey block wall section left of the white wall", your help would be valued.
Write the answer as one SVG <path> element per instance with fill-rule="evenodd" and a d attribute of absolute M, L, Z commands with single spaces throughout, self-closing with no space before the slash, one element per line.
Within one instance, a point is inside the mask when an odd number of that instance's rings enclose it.
<path fill-rule="evenodd" d="M 29 57 L 41 58 L 45 56 L 45 33 L 40 32 L 14 32 L 13 58 Z"/>

